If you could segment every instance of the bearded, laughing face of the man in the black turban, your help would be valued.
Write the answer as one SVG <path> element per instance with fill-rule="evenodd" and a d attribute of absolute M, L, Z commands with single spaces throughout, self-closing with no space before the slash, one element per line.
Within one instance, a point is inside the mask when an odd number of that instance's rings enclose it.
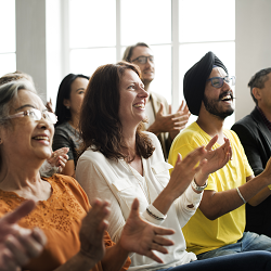
<path fill-rule="evenodd" d="M 221 67 L 212 68 L 209 78 L 227 76 L 225 72 Z M 215 88 L 211 86 L 211 81 L 207 81 L 205 86 L 203 105 L 205 109 L 217 116 L 220 119 L 224 119 L 232 115 L 234 112 L 233 107 L 233 92 L 228 82 L 223 82 L 221 88 Z"/>

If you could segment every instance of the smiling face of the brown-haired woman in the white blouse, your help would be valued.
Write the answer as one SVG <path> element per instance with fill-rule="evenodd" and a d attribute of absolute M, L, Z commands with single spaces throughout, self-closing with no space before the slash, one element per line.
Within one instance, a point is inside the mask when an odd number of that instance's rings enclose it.
<path fill-rule="evenodd" d="M 119 82 L 118 116 L 122 127 L 137 127 L 146 118 L 145 104 L 149 96 L 137 73 L 126 69 Z"/>

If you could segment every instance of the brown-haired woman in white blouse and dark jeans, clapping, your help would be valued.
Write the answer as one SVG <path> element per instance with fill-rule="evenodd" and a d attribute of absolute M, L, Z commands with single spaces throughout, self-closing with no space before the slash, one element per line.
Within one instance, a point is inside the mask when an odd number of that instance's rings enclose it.
<path fill-rule="evenodd" d="M 155 224 L 172 228 L 175 245 L 164 263 L 134 254 L 129 270 L 268 270 L 271 254 L 257 253 L 196 260 L 185 250 L 182 228 L 195 214 L 208 175 L 231 157 L 229 140 L 211 150 L 217 137 L 183 160 L 178 155 L 175 169 L 164 160 L 157 137 L 142 131 L 147 92 L 138 66 L 120 62 L 99 67 L 92 75 L 81 107 L 80 129 L 83 153 L 76 177 L 89 198 L 112 202 L 108 232 L 119 241 L 137 197 L 141 216 Z M 208 160 L 204 159 L 208 158 Z M 199 164 L 197 167 L 196 165 Z"/>

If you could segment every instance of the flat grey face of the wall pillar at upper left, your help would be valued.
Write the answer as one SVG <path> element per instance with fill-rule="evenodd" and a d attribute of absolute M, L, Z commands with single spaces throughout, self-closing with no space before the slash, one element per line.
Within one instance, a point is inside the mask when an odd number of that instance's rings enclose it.
<path fill-rule="evenodd" d="M 16 0 L 16 69 L 47 91 L 46 0 Z"/>

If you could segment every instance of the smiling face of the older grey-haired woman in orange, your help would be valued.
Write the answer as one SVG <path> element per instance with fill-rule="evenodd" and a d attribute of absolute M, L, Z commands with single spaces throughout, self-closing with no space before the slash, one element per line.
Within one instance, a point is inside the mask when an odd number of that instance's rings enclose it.
<path fill-rule="evenodd" d="M 47 111 L 41 99 L 28 91 L 18 90 L 17 99 L 11 105 L 10 115 L 37 108 Z M 44 160 L 51 156 L 52 138 L 54 133 L 53 124 L 44 118 L 34 120 L 29 116 L 12 118 L 5 128 L 1 128 L 2 155 L 7 157 L 16 156 L 21 159 Z M 3 156 L 3 157 L 4 157 Z"/>

